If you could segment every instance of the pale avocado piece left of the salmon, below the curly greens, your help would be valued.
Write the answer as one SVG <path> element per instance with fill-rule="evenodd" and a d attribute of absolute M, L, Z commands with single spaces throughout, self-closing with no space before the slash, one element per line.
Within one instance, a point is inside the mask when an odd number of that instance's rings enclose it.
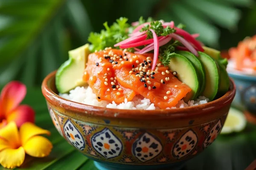
<path fill-rule="evenodd" d="M 69 59 L 58 69 L 55 84 L 58 92 L 67 93 L 76 86 L 85 85 L 82 77 L 84 74 L 87 57 L 90 54 L 89 44 L 68 52 Z"/>

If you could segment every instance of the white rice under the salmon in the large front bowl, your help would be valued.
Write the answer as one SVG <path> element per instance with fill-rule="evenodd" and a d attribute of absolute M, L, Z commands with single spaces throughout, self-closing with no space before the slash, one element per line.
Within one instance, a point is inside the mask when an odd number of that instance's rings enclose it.
<path fill-rule="evenodd" d="M 69 94 L 59 94 L 61 97 L 74 101 L 83 103 L 86 105 L 93 105 L 99 107 L 106 108 L 114 108 L 114 109 L 132 109 L 132 110 L 156 110 L 158 107 L 154 106 L 154 103 L 151 103 L 149 99 L 144 98 L 141 95 L 137 95 L 130 102 L 125 99 L 125 102 L 117 105 L 114 101 L 112 103 L 107 101 L 98 101 L 96 94 L 93 93 L 90 87 L 76 87 L 71 90 Z M 204 96 L 199 96 L 196 100 L 190 100 L 188 103 L 185 103 L 183 100 L 180 100 L 175 107 L 166 108 L 166 109 L 174 109 L 174 108 L 186 108 L 189 106 L 197 106 L 205 104 L 209 101 Z"/>

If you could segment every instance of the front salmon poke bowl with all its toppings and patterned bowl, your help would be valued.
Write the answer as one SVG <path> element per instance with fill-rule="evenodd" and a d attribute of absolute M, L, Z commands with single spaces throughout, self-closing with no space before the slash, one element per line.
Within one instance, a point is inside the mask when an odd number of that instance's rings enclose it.
<path fill-rule="evenodd" d="M 224 125 L 227 59 L 173 21 L 103 25 L 44 79 L 53 124 L 100 170 L 182 168 Z"/>

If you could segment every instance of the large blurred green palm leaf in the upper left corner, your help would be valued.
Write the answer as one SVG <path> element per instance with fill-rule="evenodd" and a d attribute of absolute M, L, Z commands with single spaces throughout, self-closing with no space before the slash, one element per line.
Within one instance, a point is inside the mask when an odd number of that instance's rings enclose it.
<path fill-rule="evenodd" d="M 80 0 L 0 0 L 0 14 L 2 85 L 12 79 L 40 84 L 92 30 Z"/>

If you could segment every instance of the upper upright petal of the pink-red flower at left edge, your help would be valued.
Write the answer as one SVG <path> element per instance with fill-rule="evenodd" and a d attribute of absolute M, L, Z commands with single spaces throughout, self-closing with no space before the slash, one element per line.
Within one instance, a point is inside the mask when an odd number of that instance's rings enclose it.
<path fill-rule="evenodd" d="M 26 96 L 26 86 L 21 82 L 9 82 L 0 96 L 0 115 L 6 115 L 15 109 Z"/>

